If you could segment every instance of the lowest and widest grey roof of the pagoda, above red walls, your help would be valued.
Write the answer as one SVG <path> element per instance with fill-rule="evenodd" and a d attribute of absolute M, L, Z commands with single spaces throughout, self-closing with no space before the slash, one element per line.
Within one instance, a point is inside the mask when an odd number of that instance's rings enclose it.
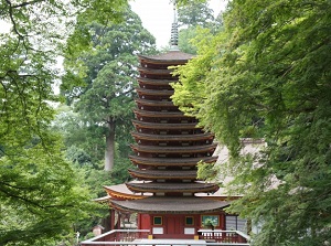
<path fill-rule="evenodd" d="M 147 197 L 110 202 L 117 210 L 143 214 L 203 214 L 217 212 L 229 205 L 227 201 L 204 197 Z"/>

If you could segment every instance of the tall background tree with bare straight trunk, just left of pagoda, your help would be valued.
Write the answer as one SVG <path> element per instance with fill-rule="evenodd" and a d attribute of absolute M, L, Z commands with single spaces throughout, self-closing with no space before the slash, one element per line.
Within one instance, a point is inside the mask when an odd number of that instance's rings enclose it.
<path fill-rule="evenodd" d="M 122 23 L 94 23 L 88 26 L 93 50 L 66 61 L 68 73 L 62 85 L 70 99 L 79 97 L 74 107 L 87 125 L 102 129 L 106 171 L 114 168 L 116 128 L 121 130 L 120 138 L 131 128 L 136 54 L 148 53 L 154 44 L 154 38 L 142 28 L 136 13 L 128 9 L 125 18 Z M 71 68 L 77 62 L 86 67 L 85 86 L 73 85 L 74 72 Z"/>

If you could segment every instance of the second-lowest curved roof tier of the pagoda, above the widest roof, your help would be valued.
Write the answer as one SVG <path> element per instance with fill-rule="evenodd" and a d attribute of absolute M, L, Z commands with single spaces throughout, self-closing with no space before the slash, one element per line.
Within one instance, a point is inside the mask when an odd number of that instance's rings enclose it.
<path fill-rule="evenodd" d="M 194 183 L 166 183 L 166 182 L 145 182 L 145 183 L 126 183 L 132 192 L 149 193 L 199 193 L 216 192 L 220 186 L 215 183 L 194 182 Z"/>

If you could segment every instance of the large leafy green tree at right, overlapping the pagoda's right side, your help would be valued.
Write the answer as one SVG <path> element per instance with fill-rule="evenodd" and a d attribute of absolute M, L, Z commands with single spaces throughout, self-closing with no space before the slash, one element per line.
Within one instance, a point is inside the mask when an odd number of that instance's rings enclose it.
<path fill-rule="evenodd" d="M 254 245 L 330 244 L 330 7 L 231 1 L 225 31 L 179 69 L 173 99 L 229 148 L 231 211 L 261 226 Z M 260 154 L 239 154 L 247 136 L 265 137 Z"/>

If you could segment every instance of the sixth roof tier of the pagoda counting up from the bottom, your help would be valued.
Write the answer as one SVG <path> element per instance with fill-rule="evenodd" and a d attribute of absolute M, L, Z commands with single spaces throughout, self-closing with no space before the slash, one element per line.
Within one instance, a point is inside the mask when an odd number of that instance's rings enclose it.
<path fill-rule="evenodd" d="M 196 135 L 148 135 L 141 132 L 132 132 L 135 139 L 149 140 L 149 141 L 201 141 L 213 140 L 213 133 L 196 133 Z"/>

